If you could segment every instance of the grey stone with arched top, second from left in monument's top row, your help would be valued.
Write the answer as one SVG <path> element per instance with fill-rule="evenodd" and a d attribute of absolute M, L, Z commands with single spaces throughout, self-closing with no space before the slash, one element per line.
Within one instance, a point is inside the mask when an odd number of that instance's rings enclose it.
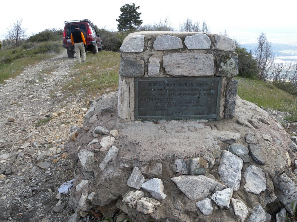
<path fill-rule="evenodd" d="M 181 49 L 183 48 L 183 44 L 181 39 L 176 36 L 157 36 L 153 45 L 155 50 L 170 50 L 170 49 Z"/>

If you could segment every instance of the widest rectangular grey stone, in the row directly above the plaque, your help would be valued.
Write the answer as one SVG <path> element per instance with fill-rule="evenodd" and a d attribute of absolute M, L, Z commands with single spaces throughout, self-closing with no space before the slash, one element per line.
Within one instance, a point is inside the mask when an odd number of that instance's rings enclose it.
<path fill-rule="evenodd" d="M 212 54 L 174 53 L 163 56 L 166 75 L 212 76 L 214 56 Z"/>

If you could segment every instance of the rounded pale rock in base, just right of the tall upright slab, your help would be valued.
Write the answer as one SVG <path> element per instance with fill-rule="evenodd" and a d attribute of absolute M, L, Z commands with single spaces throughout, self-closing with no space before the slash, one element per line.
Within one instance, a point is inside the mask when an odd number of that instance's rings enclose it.
<path fill-rule="evenodd" d="M 244 171 L 245 185 L 244 189 L 253 194 L 260 194 L 262 191 L 266 190 L 266 177 L 265 173 L 260 167 L 255 165 L 250 165 Z"/>

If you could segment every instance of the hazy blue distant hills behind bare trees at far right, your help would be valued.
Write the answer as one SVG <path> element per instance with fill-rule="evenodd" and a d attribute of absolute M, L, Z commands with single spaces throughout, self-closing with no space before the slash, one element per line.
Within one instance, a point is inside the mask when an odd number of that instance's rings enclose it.
<path fill-rule="evenodd" d="M 245 48 L 255 50 L 257 44 L 243 44 Z M 272 43 L 274 56 L 297 56 L 297 46 L 290 44 L 274 44 Z"/>

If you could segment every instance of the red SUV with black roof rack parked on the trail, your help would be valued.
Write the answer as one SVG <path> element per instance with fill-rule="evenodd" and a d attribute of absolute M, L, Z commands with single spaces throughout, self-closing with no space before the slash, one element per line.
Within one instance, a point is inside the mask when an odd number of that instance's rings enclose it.
<path fill-rule="evenodd" d="M 92 51 L 94 54 L 102 51 L 102 41 L 100 35 L 97 33 L 93 22 L 88 19 L 74 20 L 64 22 L 63 32 L 63 47 L 67 49 L 69 58 L 74 58 L 74 46 L 71 43 L 71 33 L 75 30 L 75 25 L 79 25 L 80 30 L 86 39 L 85 51 Z"/>

